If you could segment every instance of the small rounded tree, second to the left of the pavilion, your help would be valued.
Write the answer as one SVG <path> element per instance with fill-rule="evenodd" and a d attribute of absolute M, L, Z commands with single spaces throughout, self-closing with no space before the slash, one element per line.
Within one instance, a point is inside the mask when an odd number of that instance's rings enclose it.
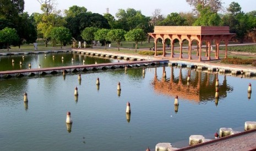
<path fill-rule="evenodd" d="M 121 29 L 110 30 L 107 33 L 108 40 L 117 42 L 118 51 L 119 51 L 120 42 L 124 40 L 124 34 L 126 34 L 126 31 Z"/>

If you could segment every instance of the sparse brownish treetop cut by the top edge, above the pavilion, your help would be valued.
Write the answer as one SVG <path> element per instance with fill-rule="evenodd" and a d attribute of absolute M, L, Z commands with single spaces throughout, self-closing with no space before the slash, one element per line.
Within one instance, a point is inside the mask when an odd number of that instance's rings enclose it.
<path fill-rule="evenodd" d="M 194 10 L 197 11 L 197 6 L 201 5 L 204 9 L 209 7 L 211 11 L 217 13 L 217 11 L 222 10 L 222 2 L 221 0 L 186 0 L 186 2 L 194 7 Z"/>

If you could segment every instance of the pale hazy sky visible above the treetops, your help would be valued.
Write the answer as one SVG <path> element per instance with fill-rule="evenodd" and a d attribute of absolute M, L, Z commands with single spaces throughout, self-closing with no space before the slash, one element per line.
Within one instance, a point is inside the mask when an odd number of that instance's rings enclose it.
<path fill-rule="evenodd" d="M 40 0 L 39 0 L 40 1 Z M 165 16 L 174 12 L 188 12 L 192 8 L 187 4 L 186 0 L 56 0 L 57 9 L 64 10 L 78 5 L 79 7 L 85 7 L 92 13 L 104 14 L 106 8 L 109 8 L 109 13 L 115 16 L 118 9 L 133 8 L 135 10 L 141 10 L 141 13 L 145 16 L 152 16 L 155 9 L 161 9 L 162 14 Z M 242 11 L 245 13 L 256 10 L 256 0 L 222 0 L 224 7 L 228 7 L 231 2 L 237 2 L 242 7 Z M 42 13 L 40 10 L 40 3 L 37 0 L 25 0 L 24 12 L 28 11 L 31 15 L 34 12 Z"/>

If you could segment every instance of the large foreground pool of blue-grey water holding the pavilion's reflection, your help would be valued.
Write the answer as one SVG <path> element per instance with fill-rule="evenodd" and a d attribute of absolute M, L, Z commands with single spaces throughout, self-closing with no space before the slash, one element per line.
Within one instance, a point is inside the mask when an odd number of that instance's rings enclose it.
<path fill-rule="evenodd" d="M 145 150 L 159 142 L 181 148 L 190 135 L 214 139 L 220 127 L 243 131 L 245 121 L 256 121 L 255 79 L 168 66 L 142 70 L 81 73 L 80 84 L 78 73 L 2 79 L 0 150 Z M 72 125 L 66 124 L 68 111 Z"/>

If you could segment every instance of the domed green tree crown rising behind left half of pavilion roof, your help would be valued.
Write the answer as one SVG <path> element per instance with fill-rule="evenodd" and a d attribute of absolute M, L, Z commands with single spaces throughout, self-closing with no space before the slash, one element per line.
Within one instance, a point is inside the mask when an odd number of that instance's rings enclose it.
<path fill-rule="evenodd" d="M 178 13 L 171 13 L 167 15 L 167 18 L 159 22 L 161 26 L 184 26 L 186 25 L 186 19 Z"/>

